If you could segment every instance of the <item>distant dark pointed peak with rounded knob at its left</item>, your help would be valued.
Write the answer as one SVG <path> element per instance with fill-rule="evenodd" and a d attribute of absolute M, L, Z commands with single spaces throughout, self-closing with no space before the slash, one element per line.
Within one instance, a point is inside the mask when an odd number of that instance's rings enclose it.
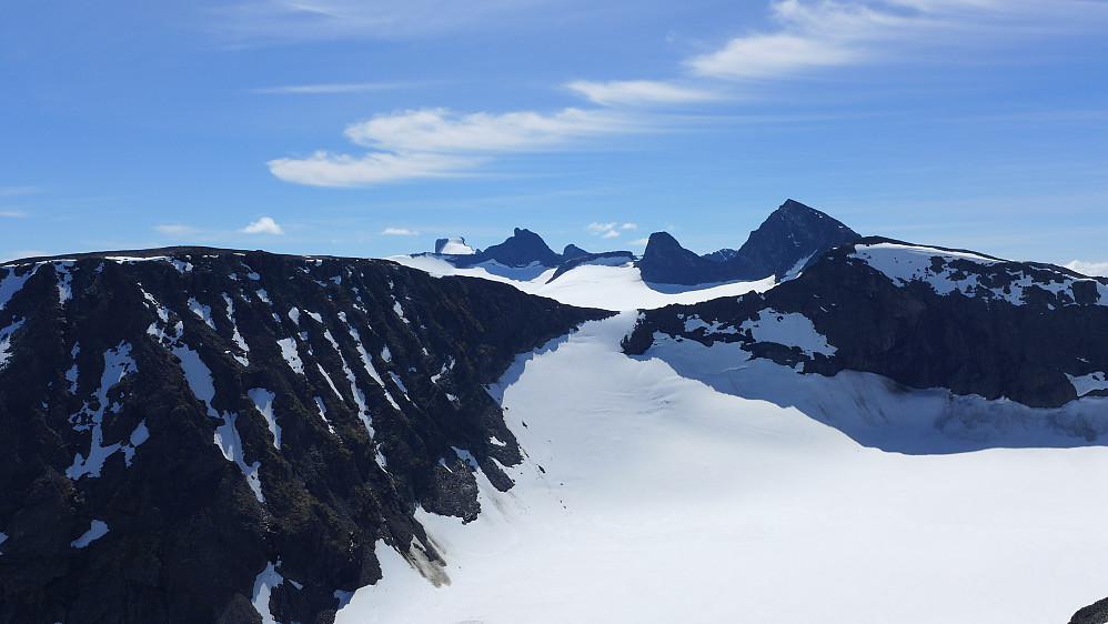
<path fill-rule="evenodd" d="M 738 251 L 724 249 L 699 256 L 658 232 L 651 235 L 638 268 L 647 282 L 665 284 L 756 281 L 770 275 L 784 281 L 827 250 L 856 239 L 858 233 L 843 223 L 787 200 L 751 232 Z"/>

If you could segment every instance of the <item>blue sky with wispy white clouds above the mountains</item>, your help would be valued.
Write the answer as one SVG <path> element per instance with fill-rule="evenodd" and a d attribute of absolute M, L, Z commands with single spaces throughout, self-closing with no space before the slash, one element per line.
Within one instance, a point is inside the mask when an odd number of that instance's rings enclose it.
<path fill-rule="evenodd" d="M 793 198 L 866 234 L 1108 262 L 1106 1 L 41 0 L 2 16 L 2 259 L 385 256 L 513 227 L 639 252 L 668 230 L 703 253 Z"/>

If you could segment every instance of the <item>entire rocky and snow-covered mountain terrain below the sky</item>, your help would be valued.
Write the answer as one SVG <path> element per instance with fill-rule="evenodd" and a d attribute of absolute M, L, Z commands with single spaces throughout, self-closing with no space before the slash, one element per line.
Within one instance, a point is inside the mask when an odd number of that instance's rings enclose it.
<path fill-rule="evenodd" d="M 757 270 L 663 285 L 526 230 L 406 266 L 0 266 L 0 622 L 1009 624 L 1108 594 L 1108 280 L 796 202 L 738 251 L 659 240 Z"/>

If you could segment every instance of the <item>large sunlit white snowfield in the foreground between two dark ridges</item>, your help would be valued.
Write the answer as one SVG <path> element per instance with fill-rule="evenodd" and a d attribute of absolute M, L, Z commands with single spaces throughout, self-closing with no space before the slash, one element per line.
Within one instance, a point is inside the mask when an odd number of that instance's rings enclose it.
<path fill-rule="evenodd" d="M 1108 450 L 862 446 L 625 356 L 634 320 L 516 361 L 490 390 L 526 455 L 516 486 L 477 473 L 466 525 L 420 512 L 440 586 L 379 543 L 384 578 L 338 622 L 1039 624 L 1104 597 Z"/>

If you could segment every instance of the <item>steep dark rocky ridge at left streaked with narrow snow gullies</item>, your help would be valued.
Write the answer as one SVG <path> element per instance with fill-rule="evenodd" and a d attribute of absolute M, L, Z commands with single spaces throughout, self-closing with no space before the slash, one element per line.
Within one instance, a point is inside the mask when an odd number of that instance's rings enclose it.
<path fill-rule="evenodd" d="M 129 255 L 0 268 L 0 622 L 256 622 L 268 566 L 278 620 L 332 621 L 379 540 L 440 558 L 416 505 L 512 486 L 482 384 L 602 315 L 384 261 Z"/>

